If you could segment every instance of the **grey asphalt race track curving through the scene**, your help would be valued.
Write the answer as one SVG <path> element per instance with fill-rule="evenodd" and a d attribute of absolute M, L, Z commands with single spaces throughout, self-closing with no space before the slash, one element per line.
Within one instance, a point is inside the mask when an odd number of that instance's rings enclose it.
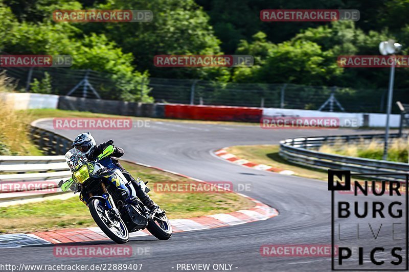
<path fill-rule="evenodd" d="M 54 130 L 51 121 L 43 121 L 37 125 Z M 80 131 L 58 132 L 74 138 Z M 260 246 L 263 244 L 331 243 L 331 199 L 327 183 L 234 165 L 211 153 L 231 145 L 277 144 L 289 137 L 356 132 L 262 130 L 258 126 L 185 122 L 150 122 L 149 128 L 92 131 L 97 142 L 113 139 L 116 145 L 123 147 L 125 159 L 177 171 L 205 181 L 251 182 L 252 190 L 245 194 L 278 209 L 280 214 L 265 221 L 233 227 L 175 233 L 167 241 L 156 240 L 151 236 L 132 238 L 127 245 L 131 245 L 134 251 L 148 247 L 150 255 L 145 256 L 56 258 L 53 256 L 53 246 L 47 245 L 1 250 L 2 263 L 143 263 L 144 271 L 177 271 L 177 264 L 181 263 L 210 263 L 211 267 L 213 264 L 232 264 L 233 271 L 328 271 L 331 269 L 331 259 L 328 257 L 263 257 L 260 254 Z M 377 229 L 378 226 L 374 228 Z M 354 236 L 356 230 L 352 228 L 343 233 L 343 237 Z M 370 233 L 362 234 L 360 241 L 376 244 Z"/>

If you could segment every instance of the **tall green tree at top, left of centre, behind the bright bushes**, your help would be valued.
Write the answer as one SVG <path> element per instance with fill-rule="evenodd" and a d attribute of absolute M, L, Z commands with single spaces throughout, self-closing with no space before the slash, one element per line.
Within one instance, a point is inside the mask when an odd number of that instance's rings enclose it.
<path fill-rule="evenodd" d="M 100 9 L 151 10 L 153 20 L 145 23 L 107 23 L 99 28 L 135 57 L 133 64 L 148 69 L 152 77 L 229 78 L 226 68 L 160 68 L 153 65 L 155 55 L 220 54 L 220 41 L 213 34 L 209 16 L 193 0 L 117 0 Z M 95 31 L 85 26 L 85 32 Z"/>

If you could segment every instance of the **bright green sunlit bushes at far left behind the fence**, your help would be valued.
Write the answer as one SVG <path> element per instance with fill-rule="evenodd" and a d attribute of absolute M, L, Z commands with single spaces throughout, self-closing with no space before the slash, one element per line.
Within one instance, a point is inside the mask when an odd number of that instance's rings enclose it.
<path fill-rule="evenodd" d="M 13 1 L 14 4 L 17 2 Z M 16 8 L 14 4 L 12 7 Z M 135 65 L 132 64 L 132 54 L 123 53 L 114 41 L 103 34 L 86 35 L 76 24 L 51 21 L 53 10 L 82 9 L 80 3 L 44 0 L 36 2 L 33 7 L 26 8 L 18 9 L 17 14 L 20 19 L 27 17 L 27 20 L 17 22 L 10 14 L 10 9 L 0 5 L 0 15 L 5 14 L 10 17 L 8 19 L 7 16 L 0 16 L 0 29 L 7 27 L 9 32 L 4 39 L 0 39 L 0 49 L 4 48 L 6 52 L 14 54 L 71 55 L 72 68 L 105 72 L 115 83 L 115 86 L 109 85 L 98 90 L 103 98 L 152 102 L 147 87 L 148 72 L 135 69 Z M 35 14 L 49 14 L 49 16 L 35 16 Z M 28 17 L 31 20 L 28 20 Z M 37 18 L 38 21 L 33 18 Z M 7 22 L 10 23 L 7 24 Z M 50 90 L 44 89 L 38 80 L 35 80 L 32 86 L 34 92 L 44 93 Z"/>

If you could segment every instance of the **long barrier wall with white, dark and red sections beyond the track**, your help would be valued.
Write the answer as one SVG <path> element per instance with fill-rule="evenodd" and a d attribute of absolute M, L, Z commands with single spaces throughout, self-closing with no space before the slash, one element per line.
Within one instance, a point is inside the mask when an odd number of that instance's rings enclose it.
<path fill-rule="evenodd" d="M 359 127 L 384 127 L 386 122 L 386 114 L 383 113 L 348 113 L 299 109 L 163 103 L 144 104 L 39 93 L 0 94 L 0 99 L 5 99 L 9 104 L 14 105 L 16 109 L 58 108 L 63 110 L 92 111 L 106 114 L 173 119 L 259 122 L 263 116 L 338 117 L 357 119 L 359 120 Z M 392 114 L 390 119 L 391 127 L 397 128 L 399 127 L 399 123 L 400 115 Z"/>

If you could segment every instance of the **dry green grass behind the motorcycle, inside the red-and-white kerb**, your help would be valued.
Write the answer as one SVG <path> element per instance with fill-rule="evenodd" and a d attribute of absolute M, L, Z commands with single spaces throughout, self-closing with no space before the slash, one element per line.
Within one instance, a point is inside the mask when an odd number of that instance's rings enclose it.
<path fill-rule="evenodd" d="M 173 174 L 135 164 L 122 165 L 132 176 L 155 182 L 189 182 Z M 166 210 L 169 218 L 190 218 L 215 213 L 247 209 L 254 203 L 235 193 L 149 193 L 151 198 Z M 18 233 L 60 228 L 96 226 L 88 208 L 78 194 L 68 200 L 52 200 L 0 208 L 0 232 Z"/>

